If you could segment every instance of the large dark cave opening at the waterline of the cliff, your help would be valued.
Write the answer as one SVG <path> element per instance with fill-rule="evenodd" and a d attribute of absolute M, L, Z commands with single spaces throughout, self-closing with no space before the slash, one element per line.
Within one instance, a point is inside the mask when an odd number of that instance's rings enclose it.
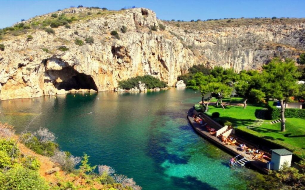
<path fill-rule="evenodd" d="M 79 73 L 71 66 L 63 67 L 61 70 L 47 70 L 46 75 L 52 79 L 54 87 L 58 90 L 93 89 L 98 91 L 95 81 L 90 75 Z"/>

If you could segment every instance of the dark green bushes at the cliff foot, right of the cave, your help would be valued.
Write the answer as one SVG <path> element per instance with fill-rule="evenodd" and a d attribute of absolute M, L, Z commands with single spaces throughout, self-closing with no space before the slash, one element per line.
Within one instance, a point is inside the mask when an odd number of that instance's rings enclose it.
<path fill-rule="evenodd" d="M 149 89 L 167 87 L 167 84 L 165 82 L 160 81 L 160 79 L 152 77 L 150 75 L 137 76 L 124 81 L 120 81 L 119 87 L 127 90 L 139 87 L 139 81 L 141 81 L 142 84 L 144 83 Z"/>

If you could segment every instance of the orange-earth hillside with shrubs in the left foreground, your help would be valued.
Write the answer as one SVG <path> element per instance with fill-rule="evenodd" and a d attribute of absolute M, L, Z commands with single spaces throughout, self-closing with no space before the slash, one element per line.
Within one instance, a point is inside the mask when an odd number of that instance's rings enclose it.
<path fill-rule="evenodd" d="M 16 135 L 0 123 L 0 190 L 142 189 L 110 166 L 91 166 L 89 157 L 59 150 L 46 128 Z"/>

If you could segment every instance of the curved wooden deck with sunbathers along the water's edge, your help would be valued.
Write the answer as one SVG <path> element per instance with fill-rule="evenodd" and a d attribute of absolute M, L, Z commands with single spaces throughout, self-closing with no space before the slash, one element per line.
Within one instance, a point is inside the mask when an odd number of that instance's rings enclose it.
<path fill-rule="evenodd" d="M 194 130 L 199 133 L 199 135 L 205 137 L 206 139 L 210 140 L 211 142 L 213 142 L 215 145 L 217 145 L 218 147 L 221 147 L 222 149 L 226 150 L 227 152 L 229 152 L 232 155 L 238 156 L 239 154 L 241 154 L 239 157 L 242 159 L 244 157 L 247 157 L 247 160 L 251 163 L 251 165 L 253 165 L 255 168 L 257 168 L 258 170 L 264 172 L 264 173 L 268 173 L 268 169 L 266 168 L 267 166 L 267 162 L 268 160 L 266 159 L 262 159 L 262 161 L 259 160 L 253 160 L 251 156 L 252 154 L 246 154 L 244 153 L 244 151 L 242 151 L 240 149 L 239 146 L 237 145 L 225 145 L 220 138 L 217 138 L 215 135 L 211 135 L 209 131 L 206 130 L 206 127 L 196 123 L 194 121 L 193 116 L 193 109 L 190 109 L 188 111 L 188 121 L 191 123 L 192 127 L 194 128 Z M 216 130 L 219 129 L 219 125 L 218 123 L 216 124 L 215 121 L 213 121 L 212 119 L 210 119 L 210 117 L 208 116 L 203 116 L 201 118 L 203 118 L 204 122 L 206 122 L 208 125 L 212 126 L 213 128 L 215 128 Z M 241 138 L 238 138 L 238 142 L 242 141 Z M 253 147 L 252 145 L 246 144 L 247 147 Z M 264 152 L 264 155 L 269 156 L 269 153 Z M 270 157 L 269 157 L 270 159 Z M 229 163 L 229 161 L 228 161 Z"/>

